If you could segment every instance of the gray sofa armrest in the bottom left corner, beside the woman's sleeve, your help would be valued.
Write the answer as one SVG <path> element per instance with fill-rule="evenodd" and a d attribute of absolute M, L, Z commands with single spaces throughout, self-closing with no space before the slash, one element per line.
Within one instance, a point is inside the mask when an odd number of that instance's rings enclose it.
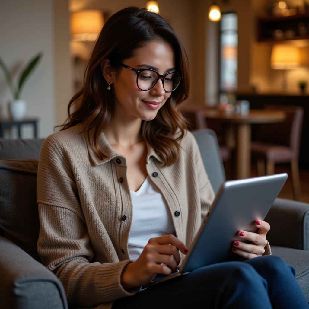
<path fill-rule="evenodd" d="M 0 236 L 2 308 L 68 308 L 59 279 L 11 240 Z"/>

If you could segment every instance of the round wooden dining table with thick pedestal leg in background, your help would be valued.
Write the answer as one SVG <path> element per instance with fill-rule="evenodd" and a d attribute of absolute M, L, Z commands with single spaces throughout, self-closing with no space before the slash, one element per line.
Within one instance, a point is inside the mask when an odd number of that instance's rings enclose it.
<path fill-rule="evenodd" d="M 251 109 L 248 115 L 223 112 L 217 108 L 185 106 L 184 111 L 203 112 L 206 120 L 221 121 L 225 126 L 226 146 L 235 149 L 236 178 L 248 178 L 251 171 L 251 125 L 276 123 L 286 118 L 286 113 L 275 110 Z"/>

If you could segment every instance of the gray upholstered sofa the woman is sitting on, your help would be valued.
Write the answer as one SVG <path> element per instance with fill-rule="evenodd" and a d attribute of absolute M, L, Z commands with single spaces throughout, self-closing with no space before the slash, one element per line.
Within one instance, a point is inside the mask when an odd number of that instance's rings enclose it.
<path fill-rule="evenodd" d="M 225 180 L 218 142 L 210 129 L 194 131 L 214 190 Z M 0 138 L 1 308 L 68 308 L 61 282 L 36 252 L 39 218 L 36 171 L 43 139 Z M 309 205 L 277 198 L 266 221 L 273 254 L 296 269 L 309 301 Z"/>

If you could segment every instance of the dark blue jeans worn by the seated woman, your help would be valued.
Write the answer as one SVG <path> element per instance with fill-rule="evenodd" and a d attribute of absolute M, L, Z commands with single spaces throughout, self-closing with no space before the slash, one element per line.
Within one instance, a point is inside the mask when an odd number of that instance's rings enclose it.
<path fill-rule="evenodd" d="M 278 256 L 209 265 L 117 299 L 116 308 L 309 308 L 295 270 Z"/>

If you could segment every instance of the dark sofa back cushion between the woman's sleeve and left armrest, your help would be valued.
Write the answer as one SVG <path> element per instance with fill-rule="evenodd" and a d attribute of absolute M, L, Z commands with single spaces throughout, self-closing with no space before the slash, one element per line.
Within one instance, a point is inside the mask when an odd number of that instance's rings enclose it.
<path fill-rule="evenodd" d="M 36 205 L 38 160 L 0 159 L 0 229 L 36 260 L 40 222 Z"/>

